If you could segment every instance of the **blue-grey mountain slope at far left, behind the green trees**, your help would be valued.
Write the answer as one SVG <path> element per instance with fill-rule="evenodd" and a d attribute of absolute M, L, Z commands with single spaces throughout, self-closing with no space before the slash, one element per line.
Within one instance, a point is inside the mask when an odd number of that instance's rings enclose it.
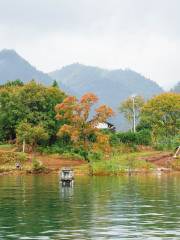
<path fill-rule="evenodd" d="M 45 84 L 52 83 L 48 74 L 38 71 L 14 50 L 4 49 L 0 52 L 0 84 L 15 79 L 23 82 L 35 79 Z"/>

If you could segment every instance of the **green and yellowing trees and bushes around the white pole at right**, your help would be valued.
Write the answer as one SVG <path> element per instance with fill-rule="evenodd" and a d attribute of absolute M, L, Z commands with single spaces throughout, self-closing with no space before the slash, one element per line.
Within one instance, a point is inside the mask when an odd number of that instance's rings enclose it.
<path fill-rule="evenodd" d="M 179 93 L 163 93 L 146 102 L 141 96 L 128 98 L 121 103 L 119 111 L 132 129 L 134 122 L 137 123 L 136 133 L 117 134 L 120 141 L 153 145 L 161 150 L 173 149 L 180 144 Z"/>

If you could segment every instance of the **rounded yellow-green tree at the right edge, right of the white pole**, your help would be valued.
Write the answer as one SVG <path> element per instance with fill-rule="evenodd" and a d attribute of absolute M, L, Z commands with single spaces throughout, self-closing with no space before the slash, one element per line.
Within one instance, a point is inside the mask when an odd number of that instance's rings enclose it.
<path fill-rule="evenodd" d="M 180 94 L 163 93 L 150 99 L 143 107 L 141 122 L 151 126 L 154 137 L 180 133 Z"/>

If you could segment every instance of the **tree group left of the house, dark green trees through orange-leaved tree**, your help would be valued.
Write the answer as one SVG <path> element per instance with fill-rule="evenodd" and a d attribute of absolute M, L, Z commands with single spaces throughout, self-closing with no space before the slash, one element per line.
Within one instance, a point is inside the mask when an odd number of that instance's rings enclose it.
<path fill-rule="evenodd" d="M 56 82 L 46 87 L 35 81 L 20 80 L 0 87 L 0 141 L 13 142 L 35 151 L 80 154 L 109 151 L 109 136 L 96 128 L 113 111 L 106 105 L 95 109 L 98 98 L 85 94 L 80 100 L 67 96 Z"/>

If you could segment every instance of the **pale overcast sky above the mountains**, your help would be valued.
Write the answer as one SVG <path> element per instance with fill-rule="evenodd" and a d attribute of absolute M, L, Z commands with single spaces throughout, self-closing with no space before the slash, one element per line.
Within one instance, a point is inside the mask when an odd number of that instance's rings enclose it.
<path fill-rule="evenodd" d="M 79 62 L 180 81 L 180 0 L 0 0 L 0 50 L 49 72 Z"/>

